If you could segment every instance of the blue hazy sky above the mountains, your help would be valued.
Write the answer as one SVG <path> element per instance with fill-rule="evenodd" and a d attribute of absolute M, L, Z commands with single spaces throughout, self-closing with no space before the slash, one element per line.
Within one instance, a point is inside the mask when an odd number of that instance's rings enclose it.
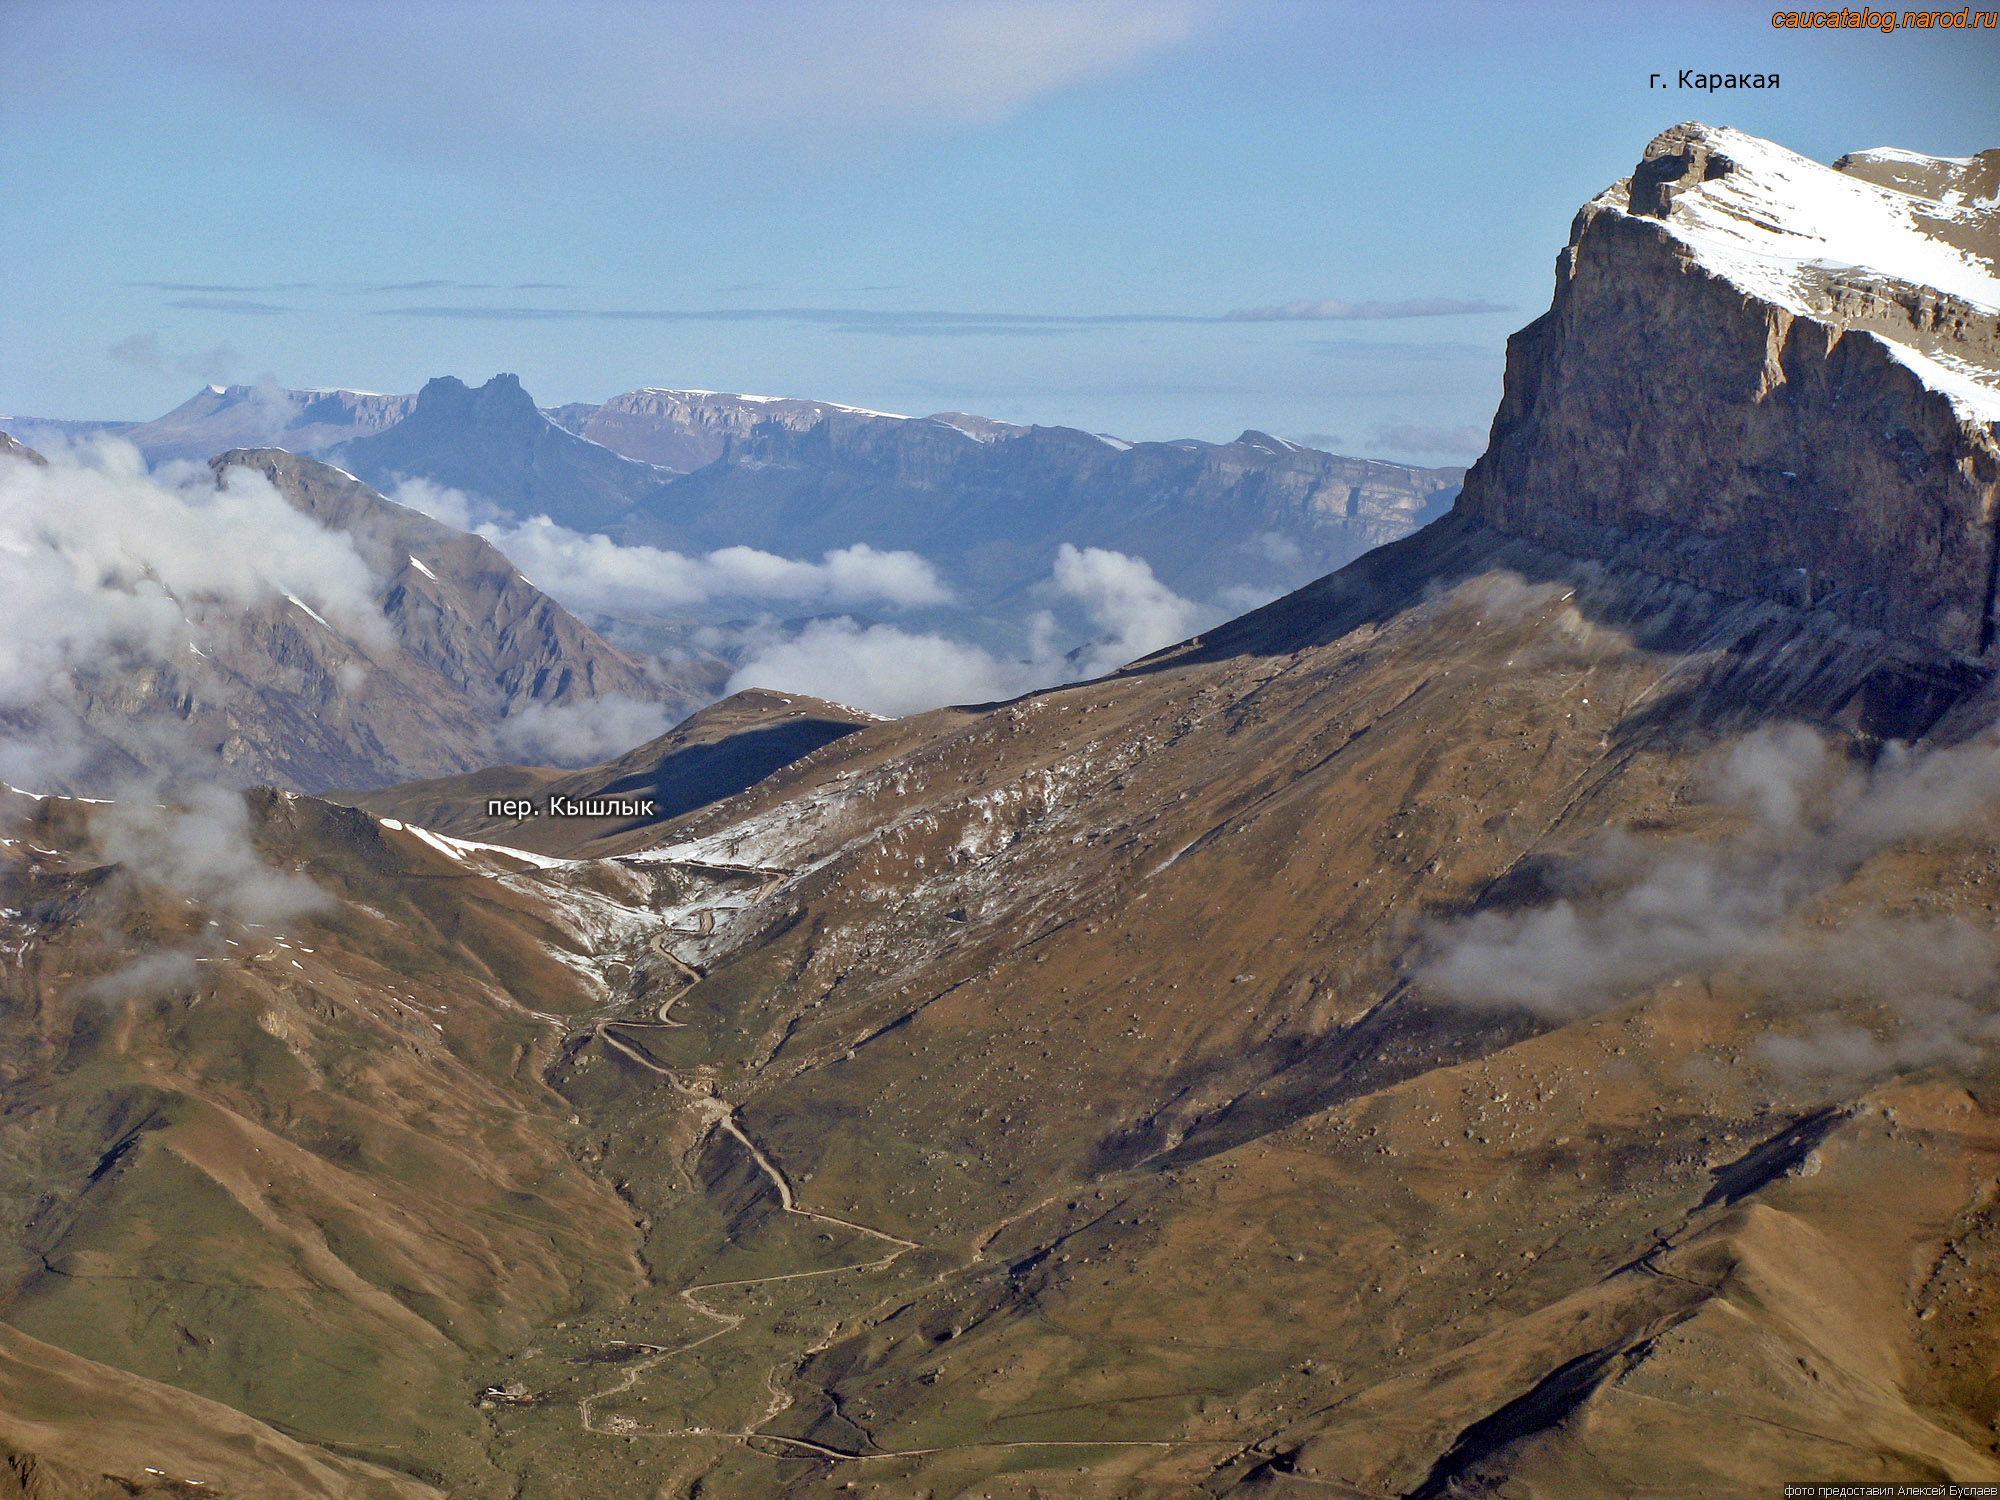
<path fill-rule="evenodd" d="M 0 412 L 516 370 L 1466 462 L 1658 130 L 1968 154 L 1996 80 L 1750 4 L 0 0 Z"/>

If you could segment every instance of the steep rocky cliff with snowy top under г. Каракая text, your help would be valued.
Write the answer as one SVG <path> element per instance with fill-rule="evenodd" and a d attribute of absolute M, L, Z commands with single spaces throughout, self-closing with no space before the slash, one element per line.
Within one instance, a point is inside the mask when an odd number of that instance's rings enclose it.
<path fill-rule="evenodd" d="M 1820 166 L 1700 124 L 1576 216 L 1460 506 L 1984 656 L 2000 152 Z"/>

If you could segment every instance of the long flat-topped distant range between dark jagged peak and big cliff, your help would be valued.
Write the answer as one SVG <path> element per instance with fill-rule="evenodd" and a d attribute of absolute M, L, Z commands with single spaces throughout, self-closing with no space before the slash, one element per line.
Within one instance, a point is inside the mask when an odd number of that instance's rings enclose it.
<path fill-rule="evenodd" d="M 618 542 L 786 556 L 912 548 L 974 602 L 1044 578 L 1062 542 L 1142 556 L 1192 594 L 1296 582 L 1442 514 L 1462 478 L 1264 432 L 1130 444 L 962 412 L 908 418 L 708 390 L 562 410 L 584 436 L 690 470 L 636 496 L 606 528 Z"/>

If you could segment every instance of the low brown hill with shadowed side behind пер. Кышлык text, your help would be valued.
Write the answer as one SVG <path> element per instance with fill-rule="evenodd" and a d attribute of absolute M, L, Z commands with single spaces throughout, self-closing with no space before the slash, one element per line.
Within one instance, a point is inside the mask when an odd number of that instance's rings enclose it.
<path fill-rule="evenodd" d="M 710 802 L 736 796 L 820 746 L 876 724 L 846 704 L 764 688 L 736 692 L 690 714 L 670 732 L 602 766 L 562 772 L 548 766 L 488 766 L 470 776 L 386 786 L 380 792 L 334 792 L 330 800 L 366 808 L 454 838 L 582 858 L 598 844 L 630 844 L 630 836 Z M 524 800 L 532 816 L 488 816 L 490 800 Z M 576 818 L 550 814 L 552 798 L 650 800 L 638 816 Z"/>

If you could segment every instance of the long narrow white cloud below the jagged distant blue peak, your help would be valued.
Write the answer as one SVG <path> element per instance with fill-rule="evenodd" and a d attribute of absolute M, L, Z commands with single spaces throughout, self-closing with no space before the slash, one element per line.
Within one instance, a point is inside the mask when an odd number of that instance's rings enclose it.
<path fill-rule="evenodd" d="M 540 590 L 574 610 L 652 612 L 714 598 L 900 608 L 952 602 L 952 590 L 922 556 L 882 552 L 866 542 L 826 552 L 818 562 L 750 546 L 688 556 L 584 536 L 548 516 L 494 520 L 490 506 L 424 480 L 404 480 L 394 498 L 450 526 L 476 530 Z"/>

